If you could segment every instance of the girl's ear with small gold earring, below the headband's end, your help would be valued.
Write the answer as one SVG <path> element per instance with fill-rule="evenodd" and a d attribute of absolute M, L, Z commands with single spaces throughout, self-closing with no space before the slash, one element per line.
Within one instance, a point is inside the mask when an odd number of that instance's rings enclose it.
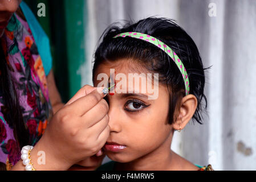
<path fill-rule="evenodd" d="M 186 124 L 193 117 L 194 112 L 197 109 L 197 98 L 193 94 L 188 94 L 182 98 L 182 105 L 179 110 L 179 115 L 176 121 L 173 123 L 174 130 L 182 130 Z"/>

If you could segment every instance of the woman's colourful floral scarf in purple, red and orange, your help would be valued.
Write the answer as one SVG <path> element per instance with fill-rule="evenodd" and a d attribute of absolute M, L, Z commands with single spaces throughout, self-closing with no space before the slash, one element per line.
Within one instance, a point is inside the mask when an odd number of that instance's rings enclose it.
<path fill-rule="evenodd" d="M 42 59 L 29 24 L 17 14 L 10 19 L 3 36 L 6 41 L 2 41 L 2 47 L 8 48 L 4 49 L 6 61 L 17 81 L 15 89 L 30 134 L 29 142 L 34 146 L 53 115 Z M 0 95 L 0 164 L 9 170 L 21 158 L 21 148 L 14 137 L 13 126 L 5 117 L 5 99 L 8 98 Z"/>

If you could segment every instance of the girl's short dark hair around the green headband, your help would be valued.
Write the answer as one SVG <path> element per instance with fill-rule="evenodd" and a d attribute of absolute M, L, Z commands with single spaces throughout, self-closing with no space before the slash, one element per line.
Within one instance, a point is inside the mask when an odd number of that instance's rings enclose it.
<path fill-rule="evenodd" d="M 181 72 L 173 60 L 160 48 L 155 45 L 135 38 L 113 38 L 123 32 L 141 32 L 151 35 L 177 53 L 180 57 L 189 77 L 190 94 L 197 98 L 197 109 L 193 115 L 193 122 L 196 120 L 202 124 L 202 100 L 207 99 L 204 94 L 205 73 L 200 53 L 190 36 L 178 26 L 174 20 L 168 18 L 156 18 L 151 16 L 132 24 L 127 22 L 111 24 L 101 35 L 103 41 L 95 51 L 93 77 L 97 67 L 104 61 L 117 61 L 119 59 L 135 60 L 152 73 L 159 73 L 160 84 L 166 84 L 171 89 L 169 99 L 168 123 L 172 124 L 178 117 L 178 111 L 182 104 L 182 97 L 185 96 L 184 80 Z M 100 38 L 100 39 L 101 39 Z M 173 117 L 170 117 L 173 116 Z"/>

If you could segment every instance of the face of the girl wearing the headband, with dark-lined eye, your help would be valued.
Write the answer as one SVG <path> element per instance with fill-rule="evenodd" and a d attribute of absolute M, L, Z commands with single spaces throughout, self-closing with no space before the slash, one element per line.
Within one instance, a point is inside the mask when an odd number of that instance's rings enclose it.
<path fill-rule="evenodd" d="M 137 67 L 140 72 L 129 69 L 131 65 Z M 139 75 L 140 73 L 145 73 L 145 75 L 149 73 L 140 68 L 139 65 L 131 64 L 128 60 L 119 60 L 111 65 L 101 64 L 95 72 L 94 86 L 98 86 L 101 82 L 101 80 L 96 80 L 97 75 L 105 73 L 109 77 L 110 69 L 115 69 L 115 75 L 118 73 L 126 75 L 127 85 L 122 85 L 120 88 L 127 90 L 128 93 L 128 82 L 131 81 L 128 80 L 128 73 L 138 73 Z M 115 80 L 116 84 L 119 81 Z M 141 88 L 145 84 L 146 82 L 140 81 L 139 93 L 116 93 L 116 88 L 115 94 L 112 96 L 108 94 L 105 97 L 109 104 L 110 134 L 107 143 L 114 142 L 125 146 L 121 150 L 111 150 L 111 145 L 105 145 L 105 154 L 116 162 L 127 163 L 143 156 L 159 154 L 163 148 L 170 150 L 173 127 L 169 124 L 165 125 L 169 110 L 168 89 L 159 84 L 158 97 L 148 100 L 148 96 L 150 97 L 152 94 L 149 94 L 148 90 L 146 93 L 141 92 Z"/>

